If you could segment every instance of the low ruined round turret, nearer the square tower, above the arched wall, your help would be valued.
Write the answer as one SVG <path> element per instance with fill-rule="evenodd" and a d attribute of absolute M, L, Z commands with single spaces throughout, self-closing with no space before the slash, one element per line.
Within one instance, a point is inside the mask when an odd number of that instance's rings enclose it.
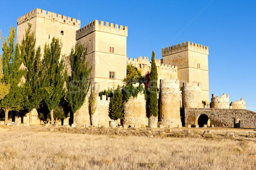
<path fill-rule="evenodd" d="M 228 94 L 221 94 L 221 97 L 219 96 L 214 96 L 212 94 L 212 99 L 211 99 L 211 108 L 216 108 L 216 109 L 229 109 L 229 95 Z"/>

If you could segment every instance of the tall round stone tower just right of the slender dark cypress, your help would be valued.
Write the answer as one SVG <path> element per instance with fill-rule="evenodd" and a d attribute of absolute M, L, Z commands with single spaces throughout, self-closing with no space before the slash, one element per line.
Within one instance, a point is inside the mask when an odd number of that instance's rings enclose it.
<path fill-rule="evenodd" d="M 180 82 L 178 79 L 160 80 L 160 125 L 178 127 L 180 120 Z"/>

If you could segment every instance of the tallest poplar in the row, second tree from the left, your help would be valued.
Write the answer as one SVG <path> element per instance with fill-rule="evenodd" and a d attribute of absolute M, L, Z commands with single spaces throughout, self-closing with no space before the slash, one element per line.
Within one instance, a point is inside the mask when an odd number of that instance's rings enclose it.
<path fill-rule="evenodd" d="M 35 50 L 35 34 L 31 33 L 32 24 L 28 24 L 25 37 L 20 45 L 20 54 L 23 59 L 24 66 L 26 67 L 25 74 L 25 108 L 29 110 L 29 124 L 32 123 L 31 111 L 33 108 L 38 108 L 38 105 L 42 101 L 41 93 L 41 74 L 42 74 L 42 62 L 41 62 L 41 48 L 40 46 Z"/>

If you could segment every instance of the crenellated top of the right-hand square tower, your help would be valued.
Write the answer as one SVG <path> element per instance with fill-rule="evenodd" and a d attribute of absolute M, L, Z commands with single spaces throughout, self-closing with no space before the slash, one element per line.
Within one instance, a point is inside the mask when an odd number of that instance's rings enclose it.
<path fill-rule="evenodd" d="M 188 50 L 209 55 L 209 49 L 207 46 L 187 41 L 186 43 L 182 42 L 180 44 L 162 48 L 162 56 L 167 56 L 170 54 L 175 54 L 178 52 L 188 51 Z"/>

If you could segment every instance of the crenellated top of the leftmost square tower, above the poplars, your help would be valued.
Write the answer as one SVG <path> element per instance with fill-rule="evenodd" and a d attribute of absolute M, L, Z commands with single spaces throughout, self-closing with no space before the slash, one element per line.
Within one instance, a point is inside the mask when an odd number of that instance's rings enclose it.
<path fill-rule="evenodd" d="M 76 20 L 75 18 L 66 17 L 64 15 L 55 14 L 53 12 L 41 10 L 39 8 L 35 8 L 33 11 L 23 15 L 22 17 L 17 18 L 17 26 L 24 23 L 27 20 L 31 20 L 33 17 L 42 17 L 49 20 L 54 20 L 60 23 L 66 23 L 70 26 L 76 26 L 80 28 L 81 21 Z"/>

